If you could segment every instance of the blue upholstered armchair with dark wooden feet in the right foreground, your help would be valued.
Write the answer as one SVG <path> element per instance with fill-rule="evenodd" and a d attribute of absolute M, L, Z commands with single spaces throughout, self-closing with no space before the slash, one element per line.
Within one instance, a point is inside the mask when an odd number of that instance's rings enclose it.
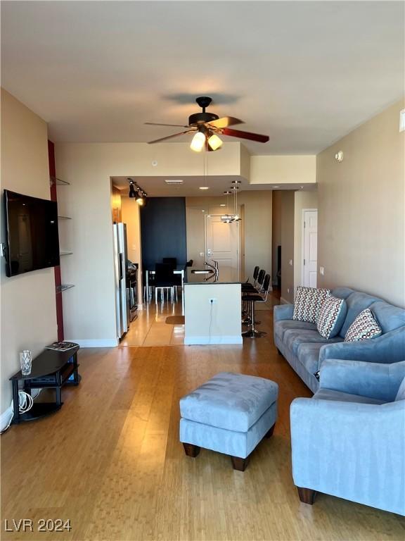
<path fill-rule="evenodd" d="M 405 515 L 404 378 L 405 361 L 322 363 L 319 391 L 291 404 L 302 502 L 324 492 Z"/>

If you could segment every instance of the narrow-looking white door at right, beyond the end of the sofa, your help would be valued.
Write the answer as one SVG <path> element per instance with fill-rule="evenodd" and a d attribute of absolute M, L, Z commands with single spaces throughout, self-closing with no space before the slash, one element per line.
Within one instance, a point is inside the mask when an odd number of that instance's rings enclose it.
<path fill-rule="evenodd" d="M 303 211 L 303 271 L 302 285 L 316 287 L 316 269 L 318 263 L 318 211 Z"/>

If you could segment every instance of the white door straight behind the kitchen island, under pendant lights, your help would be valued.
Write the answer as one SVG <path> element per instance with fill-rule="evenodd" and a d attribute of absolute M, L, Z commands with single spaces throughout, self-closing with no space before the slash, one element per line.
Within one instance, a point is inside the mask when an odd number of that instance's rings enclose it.
<path fill-rule="evenodd" d="M 227 267 L 238 272 L 239 222 L 224 223 L 221 216 L 206 216 L 205 256 L 206 261 L 218 261 L 219 270 Z"/>

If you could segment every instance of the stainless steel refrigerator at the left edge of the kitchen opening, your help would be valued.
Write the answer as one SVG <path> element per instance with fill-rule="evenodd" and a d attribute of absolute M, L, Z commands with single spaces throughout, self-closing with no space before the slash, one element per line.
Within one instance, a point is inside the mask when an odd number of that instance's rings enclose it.
<path fill-rule="evenodd" d="M 127 291 L 127 225 L 114 224 L 115 306 L 117 338 L 129 329 L 129 294 Z"/>

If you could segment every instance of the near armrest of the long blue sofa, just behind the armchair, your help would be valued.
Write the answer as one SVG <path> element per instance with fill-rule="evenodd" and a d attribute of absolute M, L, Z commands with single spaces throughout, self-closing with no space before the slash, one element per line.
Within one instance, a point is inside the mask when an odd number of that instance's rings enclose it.
<path fill-rule="evenodd" d="M 319 368 L 326 359 L 349 359 L 368 363 L 397 363 L 405 359 L 405 327 L 361 342 L 335 342 L 321 347 Z"/>

